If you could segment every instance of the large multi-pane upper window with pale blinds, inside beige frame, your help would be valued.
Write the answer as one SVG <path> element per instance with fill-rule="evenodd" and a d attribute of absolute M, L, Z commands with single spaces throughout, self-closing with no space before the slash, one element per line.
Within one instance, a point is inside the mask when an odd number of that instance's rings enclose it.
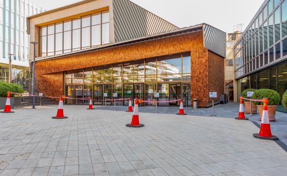
<path fill-rule="evenodd" d="M 109 12 L 40 28 L 40 56 L 68 53 L 109 43 Z"/>

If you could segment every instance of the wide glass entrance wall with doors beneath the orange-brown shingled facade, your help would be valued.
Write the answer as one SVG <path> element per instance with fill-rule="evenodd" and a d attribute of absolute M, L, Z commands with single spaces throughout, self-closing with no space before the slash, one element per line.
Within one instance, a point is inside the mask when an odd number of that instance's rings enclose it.
<path fill-rule="evenodd" d="M 65 90 L 79 97 L 93 97 L 95 105 L 103 105 L 105 98 L 140 98 L 155 100 L 154 93 L 160 93 L 160 101 L 176 100 L 184 97 L 190 105 L 191 57 L 189 53 L 179 53 L 156 58 L 135 60 L 112 65 L 73 70 L 65 73 Z M 81 86 L 81 87 L 80 87 Z M 81 88 L 81 89 L 80 89 Z M 70 90 L 77 90 L 70 93 Z M 117 93 L 113 98 L 112 93 Z M 67 96 L 67 92 L 65 93 Z M 104 97 L 106 94 L 107 97 Z M 189 102 L 189 103 L 188 103 Z M 88 104 L 69 102 L 69 104 Z M 111 102 L 107 102 L 111 105 Z M 128 101 L 117 102 L 128 105 Z M 153 105 L 147 103 L 146 105 Z M 170 106 L 169 103 L 159 104 Z"/>

